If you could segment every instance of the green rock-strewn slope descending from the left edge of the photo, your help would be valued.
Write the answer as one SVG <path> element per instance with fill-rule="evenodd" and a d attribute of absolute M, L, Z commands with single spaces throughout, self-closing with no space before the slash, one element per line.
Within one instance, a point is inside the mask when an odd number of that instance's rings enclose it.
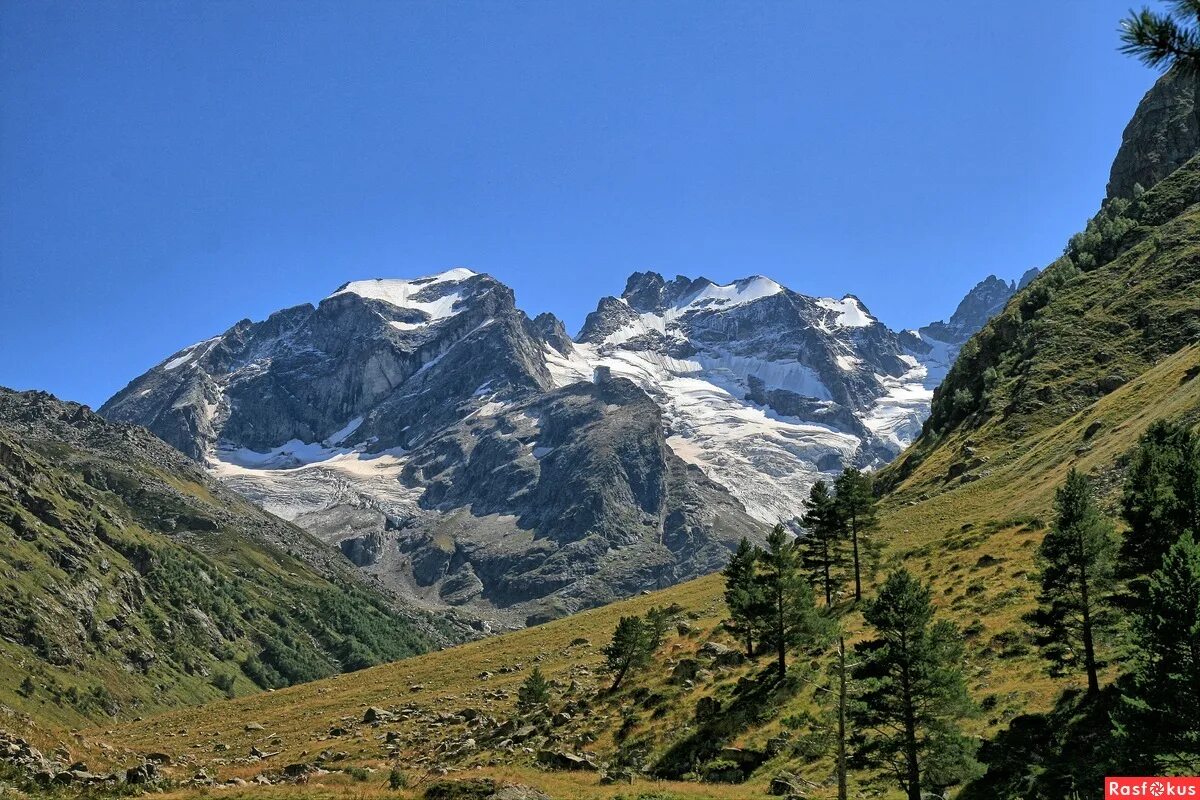
<path fill-rule="evenodd" d="M 446 631 L 148 431 L 0 389 L 0 702 L 71 724 L 132 716 Z"/>

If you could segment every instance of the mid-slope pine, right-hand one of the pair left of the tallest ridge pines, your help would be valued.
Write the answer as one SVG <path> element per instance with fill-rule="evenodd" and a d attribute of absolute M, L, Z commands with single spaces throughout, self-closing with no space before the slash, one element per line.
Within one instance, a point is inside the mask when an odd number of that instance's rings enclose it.
<path fill-rule="evenodd" d="M 767 536 L 758 560 L 761 628 L 764 644 L 775 651 L 779 676 L 787 675 L 787 650 L 816 640 L 824 621 L 812 603 L 812 587 L 800 570 L 800 557 L 782 525 Z"/>

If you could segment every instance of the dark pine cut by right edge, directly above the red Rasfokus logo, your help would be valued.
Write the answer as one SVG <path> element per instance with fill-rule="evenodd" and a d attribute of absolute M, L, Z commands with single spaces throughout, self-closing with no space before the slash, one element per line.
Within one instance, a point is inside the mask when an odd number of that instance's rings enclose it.
<path fill-rule="evenodd" d="M 1200 770 L 1200 545 L 1190 533 L 1151 576 L 1117 736 L 1138 769 Z"/>

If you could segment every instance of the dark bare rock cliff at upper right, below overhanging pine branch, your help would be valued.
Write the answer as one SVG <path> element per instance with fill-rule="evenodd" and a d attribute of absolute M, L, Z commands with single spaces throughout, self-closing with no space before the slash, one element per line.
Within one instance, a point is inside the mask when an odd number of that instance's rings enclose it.
<path fill-rule="evenodd" d="M 1110 198 L 1153 187 L 1200 152 L 1200 78 L 1168 72 L 1146 92 L 1121 137 Z"/>

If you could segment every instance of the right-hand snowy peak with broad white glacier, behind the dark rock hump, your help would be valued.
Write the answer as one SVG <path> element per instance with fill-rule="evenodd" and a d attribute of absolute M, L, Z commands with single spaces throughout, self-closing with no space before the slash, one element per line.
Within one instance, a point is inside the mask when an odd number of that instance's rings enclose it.
<path fill-rule="evenodd" d="M 920 433 L 932 385 L 911 338 L 852 295 L 638 272 L 551 366 L 559 380 L 599 368 L 640 385 L 676 453 L 774 523 L 817 476 L 886 463 Z"/>

